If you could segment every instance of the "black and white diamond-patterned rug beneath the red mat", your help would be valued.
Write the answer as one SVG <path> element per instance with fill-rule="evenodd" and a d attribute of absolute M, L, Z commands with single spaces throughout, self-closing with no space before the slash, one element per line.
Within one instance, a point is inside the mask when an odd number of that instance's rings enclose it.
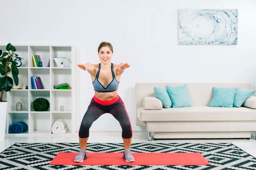
<path fill-rule="evenodd" d="M 256 158 L 231 143 L 133 143 L 130 149 L 134 153 L 200 152 L 211 166 L 49 165 L 59 152 L 79 152 L 79 144 L 16 143 L 0 153 L 0 170 L 256 170 Z M 88 143 L 86 150 L 121 153 L 124 144 Z"/>

